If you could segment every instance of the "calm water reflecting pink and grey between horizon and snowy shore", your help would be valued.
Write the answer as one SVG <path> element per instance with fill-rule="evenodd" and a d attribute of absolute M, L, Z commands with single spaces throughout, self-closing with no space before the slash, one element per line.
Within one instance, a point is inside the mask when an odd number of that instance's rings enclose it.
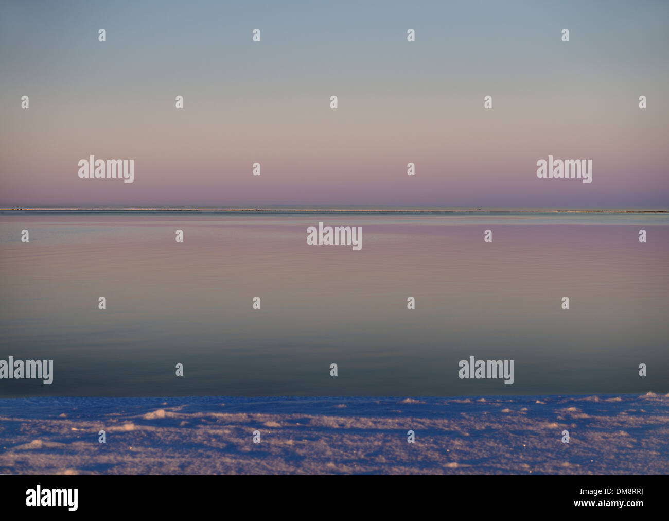
<path fill-rule="evenodd" d="M 318 222 L 363 226 L 362 250 L 308 246 Z M 55 373 L 51 385 L 2 379 L 0 396 L 669 392 L 668 224 L 662 214 L 0 212 L 0 359 L 54 360 Z M 470 356 L 514 360 L 514 384 L 461 380 Z"/>

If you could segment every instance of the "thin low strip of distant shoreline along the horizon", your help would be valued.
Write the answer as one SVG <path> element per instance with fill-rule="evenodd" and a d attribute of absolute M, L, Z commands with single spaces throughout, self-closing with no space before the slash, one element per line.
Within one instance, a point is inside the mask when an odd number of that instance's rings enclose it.
<path fill-rule="evenodd" d="M 508 208 L 430 208 L 402 209 L 393 208 L 0 208 L 0 212 L 275 212 L 275 213 L 310 213 L 341 212 L 348 214 L 373 213 L 412 213 L 412 214 L 463 214 L 463 213 L 509 213 L 509 214 L 666 214 L 669 210 L 511 210 Z"/>

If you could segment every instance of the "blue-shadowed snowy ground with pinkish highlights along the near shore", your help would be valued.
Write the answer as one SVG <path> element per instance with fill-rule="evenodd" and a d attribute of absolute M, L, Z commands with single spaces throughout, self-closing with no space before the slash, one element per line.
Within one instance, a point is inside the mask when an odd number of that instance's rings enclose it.
<path fill-rule="evenodd" d="M 669 394 L 13 398 L 0 448 L 0 473 L 666 474 Z"/>

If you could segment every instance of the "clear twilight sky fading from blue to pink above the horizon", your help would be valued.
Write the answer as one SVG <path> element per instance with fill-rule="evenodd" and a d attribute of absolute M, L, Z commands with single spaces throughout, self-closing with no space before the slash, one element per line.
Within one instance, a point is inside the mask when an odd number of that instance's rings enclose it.
<path fill-rule="evenodd" d="M 3 0 L 0 206 L 668 208 L 669 3 L 557 4 Z"/>

